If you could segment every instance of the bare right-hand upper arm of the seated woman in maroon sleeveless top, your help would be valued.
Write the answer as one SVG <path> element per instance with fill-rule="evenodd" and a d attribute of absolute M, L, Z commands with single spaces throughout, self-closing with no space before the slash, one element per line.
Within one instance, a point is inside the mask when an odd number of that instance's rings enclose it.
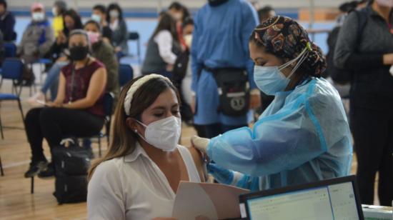
<path fill-rule="evenodd" d="M 87 89 L 86 99 L 89 99 L 92 104 L 94 104 L 99 96 L 101 96 L 102 91 L 104 91 L 106 86 L 106 69 L 100 67 L 96 69 L 94 74 L 91 76 L 89 89 Z"/>

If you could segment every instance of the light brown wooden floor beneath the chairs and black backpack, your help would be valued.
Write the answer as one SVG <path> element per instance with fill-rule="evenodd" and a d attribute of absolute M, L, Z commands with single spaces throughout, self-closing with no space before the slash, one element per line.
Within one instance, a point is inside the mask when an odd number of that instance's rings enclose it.
<path fill-rule="evenodd" d="M 4 82 L 1 92 L 11 91 L 10 85 Z M 29 89 L 22 92 L 24 113 L 31 109 L 26 102 Z M 0 219 L 86 219 L 86 203 L 58 205 L 52 195 L 54 179 L 36 178 L 35 192 L 30 194 L 30 179 L 24 178 L 28 169 L 31 151 L 26 141 L 21 115 L 15 101 L 1 103 L 0 116 L 3 126 L 19 127 L 4 129 L 4 140 L 0 140 L 0 156 L 5 176 L 0 176 Z M 189 145 L 191 135 L 195 134 L 190 127 L 183 128 L 182 144 Z M 106 143 L 103 146 L 106 149 Z M 98 146 L 93 144 L 97 156 Z M 44 143 L 44 151 L 49 159 L 49 148 Z M 352 171 L 356 167 L 353 163 Z"/>

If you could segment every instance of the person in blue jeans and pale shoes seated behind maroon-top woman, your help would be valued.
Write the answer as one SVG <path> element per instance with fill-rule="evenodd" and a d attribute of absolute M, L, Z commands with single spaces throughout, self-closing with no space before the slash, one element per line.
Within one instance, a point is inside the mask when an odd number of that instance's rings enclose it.
<path fill-rule="evenodd" d="M 56 41 L 51 45 L 51 50 L 47 54 L 54 64 L 49 69 L 40 91 L 29 98 L 29 103 L 34 104 L 36 100 L 45 101 L 45 94 L 49 89 L 51 100 L 56 98 L 60 69 L 69 64 L 68 38 L 69 33 L 74 29 L 83 29 L 81 17 L 74 9 L 69 9 L 64 12 L 64 29 L 58 33 Z"/>

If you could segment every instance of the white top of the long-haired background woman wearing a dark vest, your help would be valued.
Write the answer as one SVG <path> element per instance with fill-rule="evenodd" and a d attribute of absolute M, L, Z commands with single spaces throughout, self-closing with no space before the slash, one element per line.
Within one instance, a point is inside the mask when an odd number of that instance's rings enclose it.
<path fill-rule="evenodd" d="M 177 56 L 172 52 L 172 43 L 174 39 L 171 32 L 168 30 L 159 31 L 159 33 L 154 36 L 154 41 L 159 46 L 159 56 L 161 56 L 166 64 L 174 64 Z"/>

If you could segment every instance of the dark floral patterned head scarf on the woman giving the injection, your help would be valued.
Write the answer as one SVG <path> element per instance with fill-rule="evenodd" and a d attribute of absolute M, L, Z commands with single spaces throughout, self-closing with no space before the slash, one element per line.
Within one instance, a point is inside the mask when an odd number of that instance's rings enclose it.
<path fill-rule="evenodd" d="M 310 41 L 307 31 L 297 21 L 288 17 L 273 16 L 265 20 L 254 29 L 251 40 L 264 46 L 267 52 L 289 60 L 307 49 L 301 69 L 309 76 L 319 77 L 326 69 L 322 50 Z"/>

